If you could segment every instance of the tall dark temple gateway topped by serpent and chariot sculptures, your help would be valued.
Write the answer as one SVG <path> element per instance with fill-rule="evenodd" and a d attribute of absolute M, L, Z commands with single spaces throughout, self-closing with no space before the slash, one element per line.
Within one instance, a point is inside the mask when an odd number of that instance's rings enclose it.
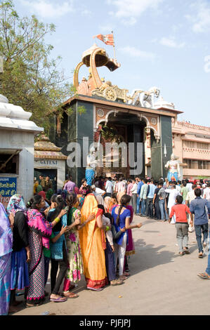
<path fill-rule="evenodd" d="M 79 69 L 82 65 L 89 67 L 88 77 L 83 77 L 79 83 Z M 171 119 L 177 121 L 181 111 L 175 109 L 173 103 L 167 103 L 160 95 L 156 87 L 148 91 L 136 89 L 132 95 L 128 95 L 127 89 L 121 89 L 112 85 L 111 81 L 101 79 L 97 67 L 106 66 L 110 71 L 117 70 L 120 64 L 116 59 L 109 58 L 104 48 L 94 44 L 82 54 L 81 62 L 74 71 L 74 86 L 77 88 L 77 95 L 65 102 L 63 120 L 56 118 L 55 131 L 51 134 L 51 140 L 56 146 L 61 147 L 61 152 L 67 157 L 72 154 L 71 143 L 77 143 L 74 150 L 74 157 L 81 161 L 77 166 L 68 167 L 77 184 L 85 176 L 86 154 L 84 142 L 105 143 L 126 143 L 127 148 L 134 143 L 141 143 L 142 149 L 135 149 L 134 161 L 141 161 L 142 169 L 140 173 L 132 172 L 140 177 L 152 176 L 159 179 L 166 177 L 166 162 L 172 154 L 172 126 Z M 82 109 L 83 111 L 79 111 Z M 123 154 L 119 161 L 119 166 L 96 168 L 97 175 L 107 173 L 123 174 L 126 177 L 131 175 L 131 164 L 127 161 L 126 166 L 122 166 Z M 114 158 L 114 154 L 112 152 Z M 105 161 L 107 154 L 104 154 Z M 129 152 L 126 154 L 129 158 Z M 112 161 L 114 161 L 112 158 Z M 126 159 L 127 160 L 127 159 Z M 67 162 L 68 166 L 70 164 Z M 135 169 L 135 166 L 133 166 Z"/>

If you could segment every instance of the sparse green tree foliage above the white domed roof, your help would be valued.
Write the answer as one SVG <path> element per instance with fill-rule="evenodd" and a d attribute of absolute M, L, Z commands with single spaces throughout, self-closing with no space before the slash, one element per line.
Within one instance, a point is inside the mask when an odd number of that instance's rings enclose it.
<path fill-rule="evenodd" d="M 51 126 L 50 115 L 61 118 L 62 103 L 75 94 L 60 69 L 60 56 L 50 59 L 53 46 L 45 43 L 46 34 L 55 32 L 55 25 L 31 18 L 20 18 L 13 1 L 0 2 L 0 54 L 4 72 L 0 74 L 0 93 L 10 103 L 32 112 L 31 120 L 45 128 Z"/>

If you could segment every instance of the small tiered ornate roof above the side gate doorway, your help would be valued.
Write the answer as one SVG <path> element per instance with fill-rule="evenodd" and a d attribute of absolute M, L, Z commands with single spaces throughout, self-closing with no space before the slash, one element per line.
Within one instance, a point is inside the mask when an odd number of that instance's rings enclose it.
<path fill-rule="evenodd" d="M 56 147 L 54 143 L 43 133 L 34 143 L 34 158 L 46 159 L 67 159 L 67 156 L 60 152 L 61 148 Z"/>

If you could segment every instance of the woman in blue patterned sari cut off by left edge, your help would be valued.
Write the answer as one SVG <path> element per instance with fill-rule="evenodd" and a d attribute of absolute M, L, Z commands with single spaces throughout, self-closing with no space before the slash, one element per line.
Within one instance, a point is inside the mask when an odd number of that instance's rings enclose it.
<path fill-rule="evenodd" d="M 8 315 L 11 296 L 11 253 L 13 233 L 4 206 L 0 203 L 0 315 Z"/>

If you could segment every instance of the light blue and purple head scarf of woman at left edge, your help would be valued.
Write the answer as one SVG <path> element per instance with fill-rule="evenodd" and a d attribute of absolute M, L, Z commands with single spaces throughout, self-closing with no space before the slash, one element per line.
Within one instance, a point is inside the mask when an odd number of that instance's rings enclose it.
<path fill-rule="evenodd" d="M 0 203 L 0 257 L 11 251 L 13 251 L 13 232 L 6 210 Z"/>

